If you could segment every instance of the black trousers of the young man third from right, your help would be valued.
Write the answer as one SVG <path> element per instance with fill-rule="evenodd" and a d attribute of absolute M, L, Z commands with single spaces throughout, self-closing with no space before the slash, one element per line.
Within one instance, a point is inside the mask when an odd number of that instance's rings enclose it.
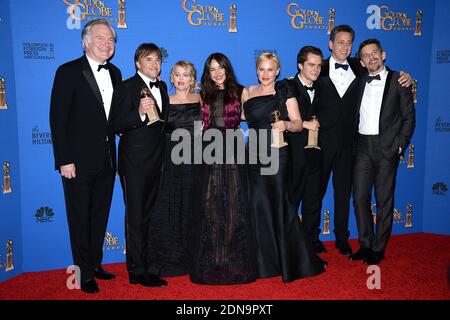
<path fill-rule="evenodd" d="M 293 203 L 301 204 L 302 222 L 311 243 L 319 241 L 322 162 L 321 150 L 305 150 L 305 162 L 293 168 Z"/>

